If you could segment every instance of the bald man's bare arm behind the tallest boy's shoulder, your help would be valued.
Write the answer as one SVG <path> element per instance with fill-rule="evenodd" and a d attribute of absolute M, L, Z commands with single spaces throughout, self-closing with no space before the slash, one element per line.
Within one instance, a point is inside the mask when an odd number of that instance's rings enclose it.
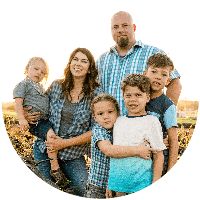
<path fill-rule="evenodd" d="M 179 78 L 175 78 L 167 85 L 166 95 L 174 102 L 178 103 L 179 96 L 181 94 L 182 85 Z"/>

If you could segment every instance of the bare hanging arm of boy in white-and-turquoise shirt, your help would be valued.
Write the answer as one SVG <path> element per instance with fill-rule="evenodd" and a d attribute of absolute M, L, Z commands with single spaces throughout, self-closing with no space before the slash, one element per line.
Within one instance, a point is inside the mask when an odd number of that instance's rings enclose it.
<path fill-rule="evenodd" d="M 158 151 L 153 154 L 153 181 L 157 181 L 162 176 L 164 156 L 163 151 Z"/>

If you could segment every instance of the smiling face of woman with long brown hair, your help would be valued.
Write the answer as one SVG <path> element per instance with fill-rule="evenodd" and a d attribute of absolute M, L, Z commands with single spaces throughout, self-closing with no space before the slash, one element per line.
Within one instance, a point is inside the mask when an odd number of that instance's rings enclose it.
<path fill-rule="evenodd" d="M 85 79 L 88 69 L 90 66 L 90 62 L 85 54 L 82 52 L 77 52 L 71 60 L 70 63 L 70 71 L 74 78 L 82 78 Z"/>

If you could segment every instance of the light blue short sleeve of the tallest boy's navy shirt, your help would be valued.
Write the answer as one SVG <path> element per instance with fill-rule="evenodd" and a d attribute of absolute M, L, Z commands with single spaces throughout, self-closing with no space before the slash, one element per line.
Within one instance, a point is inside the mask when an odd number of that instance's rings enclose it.
<path fill-rule="evenodd" d="M 166 129 L 177 127 L 176 106 L 174 104 L 165 111 L 164 123 Z"/>

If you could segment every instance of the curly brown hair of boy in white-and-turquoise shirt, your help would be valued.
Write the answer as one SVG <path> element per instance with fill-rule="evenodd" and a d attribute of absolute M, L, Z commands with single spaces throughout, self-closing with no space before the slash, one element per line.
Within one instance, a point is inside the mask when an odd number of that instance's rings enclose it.
<path fill-rule="evenodd" d="M 141 74 L 130 74 L 123 81 L 121 89 L 124 93 L 126 86 L 138 87 L 142 92 L 150 94 L 150 80 Z"/>

